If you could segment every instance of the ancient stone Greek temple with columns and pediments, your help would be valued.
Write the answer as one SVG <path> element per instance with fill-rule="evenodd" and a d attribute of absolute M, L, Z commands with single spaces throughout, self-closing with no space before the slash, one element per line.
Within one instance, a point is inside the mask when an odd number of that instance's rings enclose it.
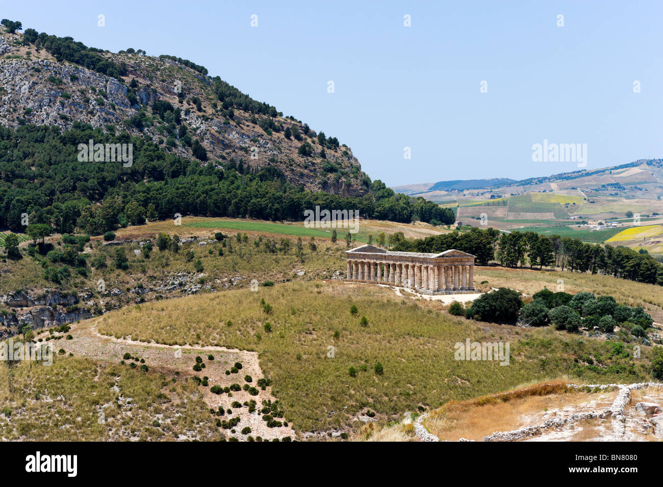
<path fill-rule="evenodd" d="M 411 288 L 423 294 L 468 291 L 474 290 L 474 257 L 453 249 L 424 254 L 362 245 L 345 252 L 346 277 Z"/>

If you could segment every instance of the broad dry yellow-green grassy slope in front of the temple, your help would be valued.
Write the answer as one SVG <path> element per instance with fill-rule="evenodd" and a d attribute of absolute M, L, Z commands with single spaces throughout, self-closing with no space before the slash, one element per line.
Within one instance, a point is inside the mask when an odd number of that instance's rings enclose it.
<path fill-rule="evenodd" d="M 367 326 L 360 323 L 363 316 Z M 390 419 L 534 378 L 572 374 L 603 382 L 647 376 L 646 359 L 613 354 L 609 343 L 551 329 L 477 325 L 444 313 L 439 303 L 406 300 L 377 286 L 290 283 L 170 299 L 108 313 L 98 328 L 141 341 L 255 350 L 286 419 L 305 431 L 351 427 L 366 408 Z M 511 365 L 454 360 L 453 344 L 467 338 L 510 341 Z M 576 361 L 586 354 L 606 361 L 588 368 Z M 377 362 L 382 374 L 375 372 Z"/>

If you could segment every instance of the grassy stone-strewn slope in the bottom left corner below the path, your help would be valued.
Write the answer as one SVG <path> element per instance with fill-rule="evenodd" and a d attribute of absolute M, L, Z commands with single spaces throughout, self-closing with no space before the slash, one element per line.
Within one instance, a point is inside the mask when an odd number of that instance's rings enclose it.
<path fill-rule="evenodd" d="M 56 351 L 58 348 L 56 347 Z M 0 363 L 0 435 L 11 441 L 217 441 L 198 387 L 157 372 L 56 356 Z"/>

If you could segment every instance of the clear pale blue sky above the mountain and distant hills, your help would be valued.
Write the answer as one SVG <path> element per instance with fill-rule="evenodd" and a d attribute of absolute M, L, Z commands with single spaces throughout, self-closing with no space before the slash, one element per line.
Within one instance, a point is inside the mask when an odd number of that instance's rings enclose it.
<path fill-rule="evenodd" d="M 663 157 L 661 1 L 33 0 L 0 15 L 202 64 L 388 186 L 577 170 L 532 162 L 544 139 L 587 144 L 587 168 Z"/>

